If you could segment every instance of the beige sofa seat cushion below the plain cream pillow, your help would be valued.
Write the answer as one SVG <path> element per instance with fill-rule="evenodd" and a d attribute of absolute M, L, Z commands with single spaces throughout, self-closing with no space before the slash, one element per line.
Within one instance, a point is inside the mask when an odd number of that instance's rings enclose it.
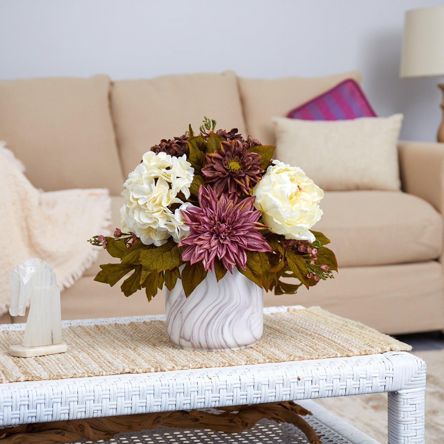
<path fill-rule="evenodd" d="M 313 227 L 331 240 L 339 267 L 436 259 L 443 219 L 428 202 L 401 191 L 329 191 Z"/>

